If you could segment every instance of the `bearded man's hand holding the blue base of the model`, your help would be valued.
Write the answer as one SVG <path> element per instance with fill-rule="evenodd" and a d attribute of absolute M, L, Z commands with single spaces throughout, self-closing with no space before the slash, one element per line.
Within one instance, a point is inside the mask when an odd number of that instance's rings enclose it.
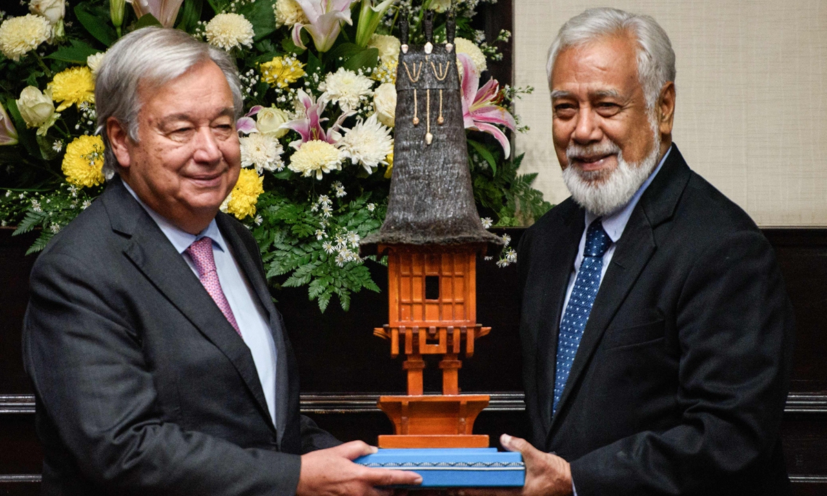
<path fill-rule="evenodd" d="M 565 496 L 571 493 L 571 466 L 566 460 L 539 451 L 531 443 L 508 434 L 500 436 L 508 451 L 519 451 L 525 462 L 525 485 L 522 496 Z"/>

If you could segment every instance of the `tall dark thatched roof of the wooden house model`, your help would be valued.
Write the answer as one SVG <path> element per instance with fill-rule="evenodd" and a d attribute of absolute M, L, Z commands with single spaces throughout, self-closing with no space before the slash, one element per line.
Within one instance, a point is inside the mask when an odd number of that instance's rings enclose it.
<path fill-rule="evenodd" d="M 429 27 L 427 39 L 433 39 Z M 451 42 L 452 32 L 449 35 Z M 406 43 L 404 39 L 404 48 Z M 411 45 L 399 54 L 388 213 L 380 231 L 361 242 L 362 254 L 375 254 L 380 245 L 503 245 L 499 236 L 485 231 L 476 211 L 457 56 L 451 48 L 432 45 L 426 53 L 423 46 Z M 441 72 L 443 67 L 447 73 Z M 444 123 L 437 124 L 437 116 Z M 433 141 L 426 142 L 426 131 Z"/>

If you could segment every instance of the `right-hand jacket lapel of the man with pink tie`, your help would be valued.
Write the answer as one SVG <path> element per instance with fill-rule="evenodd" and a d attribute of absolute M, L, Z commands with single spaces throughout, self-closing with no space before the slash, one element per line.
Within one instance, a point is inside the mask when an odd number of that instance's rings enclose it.
<path fill-rule="evenodd" d="M 287 424 L 287 407 L 288 407 L 288 388 L 289 378 L 287 370 L 287 353 L 284 344 L 284 329 L 281 327 L 281 319 L 279 312 L 273 304 L 273 298 L 270 295 L 270 289 L 267 287 L 267 281 L 261 273 L 261 265 L 256 258 L 252 256 L 249 250 L 246 249 L 241 237 L 237 235 L 232 226 L 229 217 L 218 214 L 216 217 L 218 228 L 222 231 L 224 239 L 230 245 L 233 255 L 236 257 L 238 265 L 247 278 L 252 288 L 256 291 L 261 307 L 265 309 L 268 315 L 268 322 L 270 323 L 270 332 L 273 336 L 275 344 L 275 430 L 276 442 L 281 446 L 281 438 L 284 435 L 284 429 Z M 268 416 L 269 418 L 270 416 Z"/>

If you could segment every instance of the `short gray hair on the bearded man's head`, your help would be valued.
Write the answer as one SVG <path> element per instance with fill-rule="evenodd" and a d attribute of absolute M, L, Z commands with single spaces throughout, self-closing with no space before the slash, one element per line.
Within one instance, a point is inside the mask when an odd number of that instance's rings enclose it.
<path fill-rule="evenodd" d="M 638 80 L 646 96 L 646 107 L 653 110 L 663 85 L 675 81 L 675 51 L 666 31 L 652 17 L 616 8 L 590 8 L 563 24 L 548 49 L 546 74 L 549 88 L 554 62 L 562 50 L 624 31 L 638 41 Z"/>

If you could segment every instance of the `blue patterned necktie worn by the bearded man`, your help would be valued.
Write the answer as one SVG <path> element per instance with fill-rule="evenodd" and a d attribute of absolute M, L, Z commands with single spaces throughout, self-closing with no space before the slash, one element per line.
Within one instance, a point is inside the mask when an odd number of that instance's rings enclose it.
<path fill-rule="evenodd" d="M 600 272 L 603 269 L 603 255 L 609 250 L 612 240 L 603 230 L 603 222 L 595 219 L 586 231 L 586 246 L 583 248 L 583 261 L 574 288 L 571 289 L 566 311 L 560 322 L 560 336 L 557 339 L 557 373 L 554 376 L 554 404 L 552 415 L 557 412 L 557 403 L 566 387 L 571 364 L 580 346 L 583 329 L 589 320 L 591 305 L 595 303 L 597 289 L 600 288 Z"/>

